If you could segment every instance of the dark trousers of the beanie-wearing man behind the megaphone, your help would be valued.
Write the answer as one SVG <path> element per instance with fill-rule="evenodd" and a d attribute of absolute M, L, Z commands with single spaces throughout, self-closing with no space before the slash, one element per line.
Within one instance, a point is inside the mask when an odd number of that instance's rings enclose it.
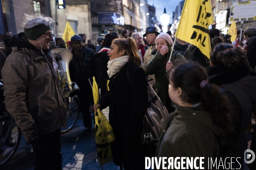
<path fill-rule="evenodd" d="M 90 89 L 91 90 L 91 89 Z M 92 121 L 90 116 L 90 103 L 93 104 L 93 92 L 92 90 L 84 90 L 80 88 L 80 92 L 77 94 L 81 103 L 81 111 L 83 114 L 84 127 L 92 127 Z"/>

